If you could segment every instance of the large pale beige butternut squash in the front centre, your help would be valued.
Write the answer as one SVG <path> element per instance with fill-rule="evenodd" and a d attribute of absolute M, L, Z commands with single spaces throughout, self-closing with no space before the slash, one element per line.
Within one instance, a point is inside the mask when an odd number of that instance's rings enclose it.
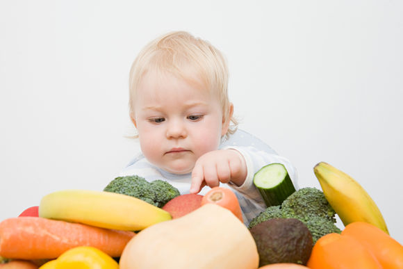
<path fill-rule="evenodd" d="M 249 230 L 231 211 L 205 204 L 140 231 L 124 248 L 120 269 L 256 269 Z"/>

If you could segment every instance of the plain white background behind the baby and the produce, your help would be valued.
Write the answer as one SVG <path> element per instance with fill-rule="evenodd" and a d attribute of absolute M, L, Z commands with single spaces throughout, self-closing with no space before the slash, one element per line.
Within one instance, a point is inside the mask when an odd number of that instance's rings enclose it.
<path fill-rule="evenodd" d="M 402 1 L 0 2 L 0 220 L 66 188 L 102 190 L 138 150 L 129 69 L 167 31 L 227 57 L 240 127 L 320 188 L 350 174 L 403 243 Z"/>

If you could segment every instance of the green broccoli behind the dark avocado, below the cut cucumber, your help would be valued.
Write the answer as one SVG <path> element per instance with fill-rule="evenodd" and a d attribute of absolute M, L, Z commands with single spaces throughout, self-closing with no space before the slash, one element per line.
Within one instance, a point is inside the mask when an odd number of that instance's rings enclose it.
<path fill-rule="evenodd" d="M 272 218 L 296 218 L 311 231 L 313 243 L 325 234 L 338 233 L 336 212 L 322 191 L 317 188 L 302 188 L 288 196 L 281 206 L 269 206 L 249 223 L 249 229 Z"/>

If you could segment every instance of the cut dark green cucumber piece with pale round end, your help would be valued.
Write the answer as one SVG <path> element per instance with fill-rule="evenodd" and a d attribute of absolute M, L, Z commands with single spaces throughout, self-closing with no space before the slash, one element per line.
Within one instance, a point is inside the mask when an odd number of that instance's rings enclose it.
<path fill-rule="evenodd" d="M 270 163 L 254 174 L 254 186 L 258 189 L 266 206 L 279 206 L 295 192 L 293 181 L 284 165 Z"/>

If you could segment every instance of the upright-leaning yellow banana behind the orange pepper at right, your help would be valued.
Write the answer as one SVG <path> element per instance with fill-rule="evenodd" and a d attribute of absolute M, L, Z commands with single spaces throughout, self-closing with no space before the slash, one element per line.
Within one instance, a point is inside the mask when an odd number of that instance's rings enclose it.
<path fill-rule="evenodd" d="M 351 222 L 368 222 L 389 234 L 377 204 L 357 181 L 324 162 L 315 165 L 313 172 L 324 197 L 345 226 Z"/>

